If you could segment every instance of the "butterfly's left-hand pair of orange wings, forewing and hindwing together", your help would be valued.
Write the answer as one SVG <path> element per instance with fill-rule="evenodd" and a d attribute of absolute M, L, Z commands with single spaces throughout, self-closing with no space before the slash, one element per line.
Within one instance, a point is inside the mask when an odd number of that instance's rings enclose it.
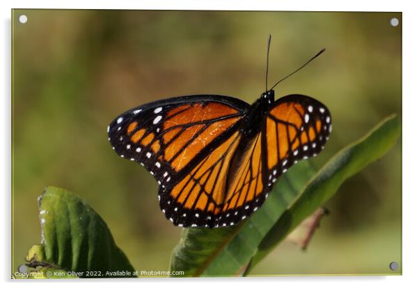
<path fill-rule="evenodd" d="M 113 120 L 109 141 L 118 155 L 155 176 L 166 217 L 191 226 L 197 212 L 219 210 L 247 107 L 243 101 L 218 95 L 157 101 Z"/>

